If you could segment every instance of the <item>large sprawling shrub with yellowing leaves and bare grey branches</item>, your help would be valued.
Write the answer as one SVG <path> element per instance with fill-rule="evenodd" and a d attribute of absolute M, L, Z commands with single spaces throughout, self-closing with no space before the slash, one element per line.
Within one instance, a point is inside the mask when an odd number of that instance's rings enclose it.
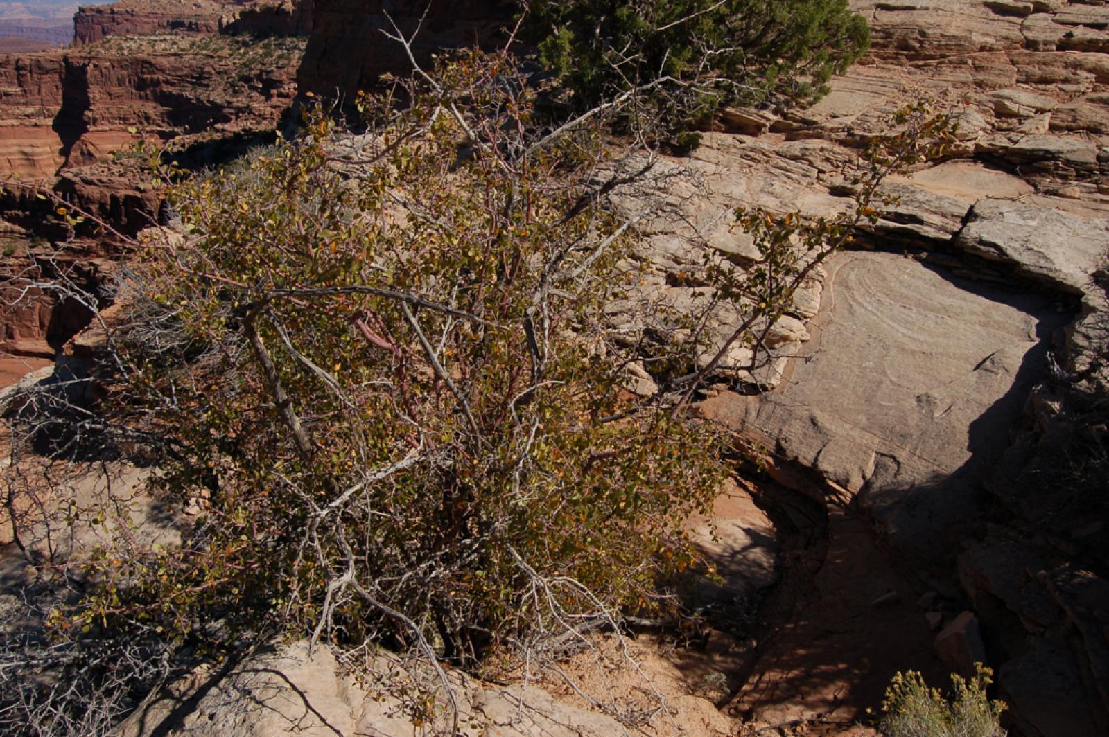
<path fill-rule="evenodd" d="M 80 617 L 474 666 L 675 612 L 719 441 L 622 416 L 611 162 L 596 131 L 513 139 L 532 93 L 503 58 L 435 80 L 401 113 L 365 101 L 357 153 L 314 115 L 176 191 L 190 235 L 136 267 L 112 391 L 162 441 L 157 493 L 201 512 L 180 547 L 114 555 Z"/>

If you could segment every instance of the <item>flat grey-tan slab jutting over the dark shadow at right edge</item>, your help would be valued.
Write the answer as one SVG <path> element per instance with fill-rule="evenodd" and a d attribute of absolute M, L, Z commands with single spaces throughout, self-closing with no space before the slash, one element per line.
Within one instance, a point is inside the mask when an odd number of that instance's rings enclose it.
<path fill-rule="evenodd" d="M 975 204 L 955 239 L 958 248 L 1076 295 L 1090 288 L 1107 243 L 1109 219 L 1080 219 L 1004 199 Z"/>

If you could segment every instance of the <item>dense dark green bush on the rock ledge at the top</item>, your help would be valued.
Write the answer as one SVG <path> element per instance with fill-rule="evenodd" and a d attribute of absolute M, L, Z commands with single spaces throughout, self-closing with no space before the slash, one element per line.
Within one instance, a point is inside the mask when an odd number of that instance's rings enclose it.
<path fill-rule="evenodd" d="M 675 140 L 722 104 L 812 101 L 869 43 L 846 0 L 533 0 L 525 23 L 578 105 L 669 79 L 649 109 Z"/>

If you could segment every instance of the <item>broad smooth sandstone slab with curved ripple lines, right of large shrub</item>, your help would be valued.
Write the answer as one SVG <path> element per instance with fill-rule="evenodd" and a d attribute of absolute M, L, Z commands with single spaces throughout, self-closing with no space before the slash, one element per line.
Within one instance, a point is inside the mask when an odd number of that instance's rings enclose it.
<path fill-rule="evenodd" d="M 705 411 L 849 493 L 865 490 L 895 545 L 942 560 L 950 528 L 977 504 L 960 469 L 1005 447 L 983 422 L 1019 417 L 1022 399 L 1010 392 L 1025 361 L 1042 360 L 1037 321 L 1061 316 L 1042 298 L 891 254 L 842 255 L 828 278 L 814 348 L 782 387 L 762 400 L 721 395 Z"/>

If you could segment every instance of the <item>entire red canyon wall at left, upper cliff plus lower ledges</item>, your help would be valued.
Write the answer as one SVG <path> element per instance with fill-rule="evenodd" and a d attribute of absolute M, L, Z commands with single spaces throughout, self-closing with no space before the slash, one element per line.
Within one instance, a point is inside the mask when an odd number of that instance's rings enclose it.
<path fill-rule="evenodd" d="M 85 8 L 83 45 L 0 55 L 0 176 L 42 181 L 134 234 L 151 224 L 157 202 L 125 153 L 133 144 L 174 141 L 186 158 L 217 157 L 272 131 L 296 92 L 311 2 L 182 6 Z M 144 30 L 161 34 L 115 35 Z M 50 245 L 64 235 L 55 219 L 48 202 L 0 193 L 0 272 L 50 279 L 64 268 L 89 284 L 106 278 L 115 246 L 90 240 L 63 257 Z M 88 319 L 49 296 L 0 297 L 0 352 L 52 355 Z"/>

